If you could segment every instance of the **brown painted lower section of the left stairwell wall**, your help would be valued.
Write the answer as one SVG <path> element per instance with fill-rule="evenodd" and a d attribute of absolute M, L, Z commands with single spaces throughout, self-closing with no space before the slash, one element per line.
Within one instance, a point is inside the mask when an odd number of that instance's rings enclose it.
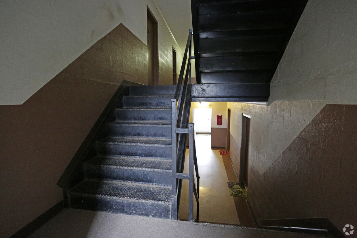
<path fill-rule="evenodd" d="M 0 106 L 0 237 L 62 199 L 56 182 L 119 84 L 147 84 L 146 55 L 120 24 L 23 105 Z"/>

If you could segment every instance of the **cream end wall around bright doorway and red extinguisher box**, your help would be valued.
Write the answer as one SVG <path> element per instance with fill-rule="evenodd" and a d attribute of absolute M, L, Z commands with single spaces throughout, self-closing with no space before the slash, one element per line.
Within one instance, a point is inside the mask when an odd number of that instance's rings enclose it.
<path fill-rule="evenodd" d="M 208 104 L 211 104 L 208 106 Z M 192 122 L 193 108 L 212 108 L 211 127 L 227 128 L 227 102 L 191 102 L 190 122 Z M 222 125 L 217 125 L 217 115 L 222 115 Z"/>

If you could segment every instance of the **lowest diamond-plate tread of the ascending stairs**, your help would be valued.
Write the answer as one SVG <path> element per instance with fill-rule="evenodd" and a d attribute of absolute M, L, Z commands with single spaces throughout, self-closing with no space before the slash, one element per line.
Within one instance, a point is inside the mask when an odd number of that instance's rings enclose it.
<path fill-rule="evenodd" d="M 129 198 L 169 203 L 171 187 L 152 183 L 117 180 L 86 179 L 70 189 L 72 193 L 84 193 L 101 197 Z"/>

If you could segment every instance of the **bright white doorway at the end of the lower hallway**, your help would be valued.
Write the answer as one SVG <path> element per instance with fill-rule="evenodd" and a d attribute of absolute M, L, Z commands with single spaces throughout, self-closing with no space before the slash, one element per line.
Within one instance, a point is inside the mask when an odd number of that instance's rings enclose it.
<path fill-rule="evenodd" d="M 192 119 L 196 134 L 211 134 L 212 108 L 193 108 Z"/>

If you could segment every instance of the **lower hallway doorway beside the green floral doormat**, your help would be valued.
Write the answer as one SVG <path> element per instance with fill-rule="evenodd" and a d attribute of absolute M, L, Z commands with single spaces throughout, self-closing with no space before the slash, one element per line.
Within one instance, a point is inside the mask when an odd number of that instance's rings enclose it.
<path fill-rule="evenodd" d="M 248 188 L 250 116 L 242 113 L 242 143 L 239 181 Z"/>

